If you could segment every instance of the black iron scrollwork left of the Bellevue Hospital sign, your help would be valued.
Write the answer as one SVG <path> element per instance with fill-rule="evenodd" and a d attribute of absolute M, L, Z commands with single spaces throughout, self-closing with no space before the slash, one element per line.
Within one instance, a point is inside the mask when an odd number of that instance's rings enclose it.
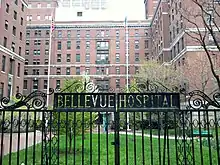
<path fill-rule="evenodd" d="M 26 107 L 27 109 L 35 109 L 35 110 L 41 110 L 46 109 L 46 99 L 47 95 L 51 95 L 54 93 L 54 89 L 49 89 L 49 94 L 46 94 L 41 91 L 34 91 L 30 93 L 28 96 L 24 96 L 21 93 L 17 93 L 15 95 L 15 98 L 18 100 L 16 102 L 11 103 L 10 98 L 3 97 L 1 99 L 1 108 L 2 109 L 17 109 L 21 107 Z"/>

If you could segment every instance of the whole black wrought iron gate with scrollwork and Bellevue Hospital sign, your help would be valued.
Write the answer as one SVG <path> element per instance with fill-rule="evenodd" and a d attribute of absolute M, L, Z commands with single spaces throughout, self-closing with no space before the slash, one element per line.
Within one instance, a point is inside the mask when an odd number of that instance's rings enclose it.
<path fill-rule="evenodd" d="M 220 114 L 207 109 L 220 107 L 217 95 L 213 101 L 193 91 L 190 109 L 180 109 L 178 93 L 144 92 L 55 93 L 53 110 L 45 108 L 47 95 L 40 91 L 17 94 L 13 103 L 3 98 L 0 164 L 220 164 Z M 128 98 L 126 106 L 120 96 Z M 177 100 L 172 104 L 171 96 Z M 138 107 L 140 102 L 148 106 Z"/>

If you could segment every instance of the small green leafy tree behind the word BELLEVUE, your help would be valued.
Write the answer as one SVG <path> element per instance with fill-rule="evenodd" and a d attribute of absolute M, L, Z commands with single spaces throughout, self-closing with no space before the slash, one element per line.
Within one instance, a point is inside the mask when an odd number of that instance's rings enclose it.
<path fill-rule="evenodd" d="M 81 79 L 66 79 L 63 88 L 64 93 L 83 93 L 87 92 L 88 85 Z M 72 152 L 72 140 L 74 136 L 86 132 L 93 128 L 97 113 L 92 112 L 61 112 L 55 113 L 55 121 L 59 123 L 58 129 L 60 135 L 68 136 L 69 152 Z M 74 151 L 75 152 L 75 151 Z"/>

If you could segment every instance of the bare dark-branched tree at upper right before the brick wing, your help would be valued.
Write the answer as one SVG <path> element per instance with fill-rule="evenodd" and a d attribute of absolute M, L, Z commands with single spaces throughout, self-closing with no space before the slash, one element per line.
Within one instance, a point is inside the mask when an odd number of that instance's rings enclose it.
<path fill-rule="evenodd" d="M 217 55 L 220 52 L 220 2 L 189 0 L 183 5 L 180 13 L 185 22 L 185 32 L 194 44 L 201 46 L 201 50 L 205 52 L 208 66 L 219 91 L 220 79 L 215 67 L 218 64 Z"/>

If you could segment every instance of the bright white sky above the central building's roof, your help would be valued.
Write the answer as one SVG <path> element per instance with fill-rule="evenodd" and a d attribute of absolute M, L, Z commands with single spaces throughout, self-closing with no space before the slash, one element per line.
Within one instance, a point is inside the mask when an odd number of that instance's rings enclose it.
<path fill-rule="evenodd" d="M 123 21 L 145 20 L 144 0 L 108 0 L 105 11 L 83 11 L 83 17 L 77 17 L 80 8 L 58 8 L 56 21 Z M 100 14 L 101 13 L 101 14 Z"/>

